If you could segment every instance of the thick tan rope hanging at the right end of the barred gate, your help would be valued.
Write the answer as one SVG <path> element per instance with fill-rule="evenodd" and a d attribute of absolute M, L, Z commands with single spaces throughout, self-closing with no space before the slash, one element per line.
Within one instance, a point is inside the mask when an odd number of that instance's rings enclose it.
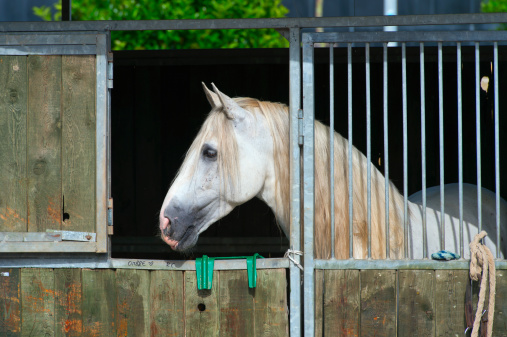
<path fill-rule="evenodd" d="M 486 235 L 485 231 L 480 232 L 470 242 L 470 278 L 474 281 L 481 280 L 481 290 L 479 291 L 479 302 L 477 303 L 477 311 L 475 312 L 475 321 L 472 329 L 472 337 L 479 335 L 479 327 L 482 316 L 484 315 L 484 301 L 486 295 L 487 282 L 489 277 L 489 307 L 488 319 L 483 329 L 487 329 L 487 336 L 491 337 L 493 333 L 493 319 L 495 317 L 495 261 L 493 254 L 486 245 L 480 243 Z M 488 326 L 490 327 L 488 329 Z"/>

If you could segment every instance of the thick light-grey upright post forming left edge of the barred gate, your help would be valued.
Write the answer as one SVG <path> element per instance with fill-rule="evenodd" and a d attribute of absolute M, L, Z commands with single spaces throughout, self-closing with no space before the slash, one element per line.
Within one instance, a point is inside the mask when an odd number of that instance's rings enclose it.
<path fill-rule="evenodd" d="M 304 332 L 305 337 L 313 336 L 315 323 L 313 231 L 315 217 L 315 161 L 314 161 L 314 68 L 313 41 L 310 35 L 303 34 L 303 189 L 304 189 Z"/>

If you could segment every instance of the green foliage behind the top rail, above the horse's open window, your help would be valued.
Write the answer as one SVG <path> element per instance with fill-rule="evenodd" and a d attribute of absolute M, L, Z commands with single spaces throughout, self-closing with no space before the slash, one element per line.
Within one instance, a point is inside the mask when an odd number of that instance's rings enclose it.
<path fill-rule="evenodd" d="M 60 0 L 61 1 L 61 0 Z M 73 0 L 72 20 L 182 20 L 277 18 L 288 13 L 282 0 Z M 61 18 L 61 2 L 53 19 Z M 51 9 L 34 7 L 35 15 L 51 20 Z M 115 31 L 112 48 L 198 49 L 288 47 L 273 29 Z"/>

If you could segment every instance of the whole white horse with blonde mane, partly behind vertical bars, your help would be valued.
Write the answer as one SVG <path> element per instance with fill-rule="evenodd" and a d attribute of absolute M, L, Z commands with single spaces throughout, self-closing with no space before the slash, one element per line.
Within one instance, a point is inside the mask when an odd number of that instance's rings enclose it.
<path fill-rule="evenodd" d="M 204 86 L 204 84 L 203 84 Z M 204 86 L 212 110 L 187 152 L 160 211 L 162 239 L 177 251 L 185 251 L 197 242 L 200 233 L 226 216 L 234 207 L 253 197 L 263 200 L 274 212 L 283 232 L 289 228 L 289 115 L 286 105 L 252 98 L 230 98 L 214 85 Z M 335 133 L 335 254 L 348 258 L 348 142 Z M 329 205 L 329 129 L 315 122 L 315 256 L 330 257 Z M 367 255 L 366 157 L 353 151 L 353 252 L 355 258 Z M 385 179 L 372 165 L 371 252 L 386 257 Z M 390 183 L 390 257 L 404 255 L 403 197 Z M 440 247 L 440 191 L 427 192 L 427 252 Z M 418 199 L 419 198 L 419 199 Z M 445 249 L 459 254 L 458 188 L 445 187 Z M 477 230 L 477 191 L 464 185 L 463 244 Z M 420 195 L 409 202 L 408 257 L 422 258 L 423 231 Z M 501 201 L 501 238 L 506 237 L 507 203 Z M 489 233 L 486 245 L 496 252 L 494 194 L 482 192 L 483 229 Z"/>

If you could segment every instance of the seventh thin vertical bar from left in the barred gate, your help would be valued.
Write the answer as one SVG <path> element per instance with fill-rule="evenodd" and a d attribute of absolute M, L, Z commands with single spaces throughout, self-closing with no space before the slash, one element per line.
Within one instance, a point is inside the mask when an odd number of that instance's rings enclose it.
<path fill-rule="evenodd" d="M 442 42 L 438 43 L 438 143 L 440 154 L 440 248 L 445 249 L 445 175 L 444 175 L 444 68 Z M 463 254 L 461 255 L 463 256 Z"/>

